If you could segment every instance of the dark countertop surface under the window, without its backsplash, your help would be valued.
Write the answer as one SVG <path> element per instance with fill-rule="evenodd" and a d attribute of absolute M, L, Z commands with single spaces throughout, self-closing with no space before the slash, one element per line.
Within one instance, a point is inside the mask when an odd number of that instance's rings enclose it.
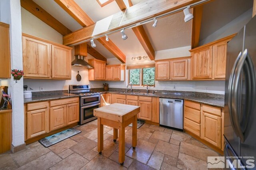
<path fill-rule="evenodd" d="M 198 103 L 202 103 L 202 104 L 206 104 L 206 105 L 211 105 L 211 106 L 215 106 L 215 107 L 221 107 L 224 108 L 224 100 L 222 99 L 212 99 L 212 98 L 200 98 L 197 96 L 179 96 L 179 95 L 169 95 L 168 94 L 163 94 L 163 95 L 144 95 L 144 94 L 129 94 L 129 93 L 122 93 L 122 92 L 118 92 L 118 91 L 100 91 L 100 93 L 114 93 L 114 94 L 120 94 L 120 95 L 135 95 L 135 96 L 148 96 L 148 97 L 160 97 L 160 98 L 167 98 L 167 99 L 184 99 L 184 100 L 189 100 L 189 101 L 194 101 L 194 102 L 198 102 Z M 195 98 L 195 99 L 193 99 Z M 197 99 L 196 99 L 197 98 Z M 212 100 L 212 102 L 210 101 L 205 101 L 205 100 Z M 213 101 L 217 101 L 223 104 L 218 104 L 218 103 L 214 103 Z"/>

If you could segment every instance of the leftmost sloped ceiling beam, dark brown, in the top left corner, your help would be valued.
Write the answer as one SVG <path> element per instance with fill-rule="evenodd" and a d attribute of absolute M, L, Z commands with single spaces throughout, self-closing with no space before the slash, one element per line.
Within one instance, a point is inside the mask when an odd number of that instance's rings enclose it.
<path fill-rule="evenodd" d="M 45 22 L 48 26 L 52 27 L 54 30 L 62 34 L 63 36 L 71 33 L 72 31 L 66 28 L 38 4 L 32 0 L 20 0 L 20 5 L 25 8 L 28 12 L 32 13 L 34 16 Z"/>

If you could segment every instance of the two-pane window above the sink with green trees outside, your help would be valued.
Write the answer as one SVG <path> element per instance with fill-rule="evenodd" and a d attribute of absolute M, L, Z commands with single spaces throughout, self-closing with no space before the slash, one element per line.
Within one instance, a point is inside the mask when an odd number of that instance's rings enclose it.
<path fill-rule="evenodd" d="M 132 85 L 155 85 L 155 67 L 129 69 L 129 83 Z"/>

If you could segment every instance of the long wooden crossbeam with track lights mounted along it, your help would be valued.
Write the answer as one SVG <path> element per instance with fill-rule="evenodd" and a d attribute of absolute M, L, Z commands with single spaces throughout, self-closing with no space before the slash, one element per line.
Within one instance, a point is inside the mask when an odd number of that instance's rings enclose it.
<path fill-rule="evenodd" d="M 161 14 L 166 14 L 167 12 L 172 12 L 173 10 L 186 7 L 199 1 L 200 0 L 144 0 L 134 6 L 131 6 L 130 8 L 127 8 L 125 12 L 121 11 L 114 14 L 108 30 L 92 36 L 96 24 L 86 26 L 64 36 L 63 43 L 65 45 L 82 43 L 83 41 L 88 41 L 91 38 L 104 36 L 109 32 L 120 30 L 128 26 L 133 26 L 139 22 L 142 23 L 150 18 L 154 18 Z"/>

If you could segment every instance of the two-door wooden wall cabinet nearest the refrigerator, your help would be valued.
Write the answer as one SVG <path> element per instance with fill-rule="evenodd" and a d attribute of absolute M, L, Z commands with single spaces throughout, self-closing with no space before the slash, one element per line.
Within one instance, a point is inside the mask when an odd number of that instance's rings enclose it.
<path fill-rule="evenodd" d="M 235 35 L 190 50 L 192 79 L 225 79 L 227 43 Z"/>

